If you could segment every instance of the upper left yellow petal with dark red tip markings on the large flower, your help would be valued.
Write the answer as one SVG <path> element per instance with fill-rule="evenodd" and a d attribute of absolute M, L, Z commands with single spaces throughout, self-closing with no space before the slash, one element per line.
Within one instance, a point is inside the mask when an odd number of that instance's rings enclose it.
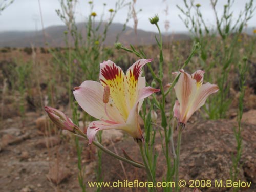
<path fill-rule="evenodd" d="M 111 60 L 100 64 L 100 83 L 110 86 L 110 97 L 123 119 L 127 119 L 129 110 L 126 103 L 126 80 L 123 70 Z"/>

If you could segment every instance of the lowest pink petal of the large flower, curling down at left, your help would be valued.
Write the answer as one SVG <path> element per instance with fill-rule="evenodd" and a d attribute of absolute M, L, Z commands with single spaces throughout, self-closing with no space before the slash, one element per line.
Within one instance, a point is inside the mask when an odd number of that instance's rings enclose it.
<path fill-rule="evenodd" d="M 116 129 L 116 130 L 126 130 L 126 123 L 118 123 L 118 124 L 110 124 L 104 121 L 93 121 L 89 124 L 87 128 L 87 137 L 89 139 L 89 144 L 92 143 L 94 137 L 99 130 L 109 130 L 109 129 Z"/>

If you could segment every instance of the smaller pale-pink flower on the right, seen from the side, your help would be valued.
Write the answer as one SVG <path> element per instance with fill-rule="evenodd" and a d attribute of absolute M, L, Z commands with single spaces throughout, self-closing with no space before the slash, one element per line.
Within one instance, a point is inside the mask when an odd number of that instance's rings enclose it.
<path fill-rule="evenodd" d="M 219 87 L 209 82 L 203 84 L 204 71 L 202 70 L 197 70 L 190 75 L 182 69 L 180 73 L 179 80 L 174 87 L 178 100 L 173 110 L 178 122 L 186 124 L 191 115 L 204 105 L 207 97 L 216 93 Z"/>

